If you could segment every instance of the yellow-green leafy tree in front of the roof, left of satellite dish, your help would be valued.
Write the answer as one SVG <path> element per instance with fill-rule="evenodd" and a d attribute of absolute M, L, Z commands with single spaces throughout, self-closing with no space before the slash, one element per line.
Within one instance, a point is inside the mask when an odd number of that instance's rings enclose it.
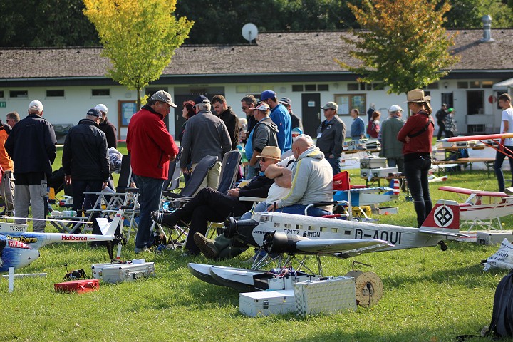
<path fill-rule="evenodd" d="M 95 25 L 102 55 L 113 68 L 107 76 L 130 90 L 160 78 L 175 49 L 187 38 L 193 21 L 173 16 L 176 0 L 83 0 L 84 14 Z"/>

